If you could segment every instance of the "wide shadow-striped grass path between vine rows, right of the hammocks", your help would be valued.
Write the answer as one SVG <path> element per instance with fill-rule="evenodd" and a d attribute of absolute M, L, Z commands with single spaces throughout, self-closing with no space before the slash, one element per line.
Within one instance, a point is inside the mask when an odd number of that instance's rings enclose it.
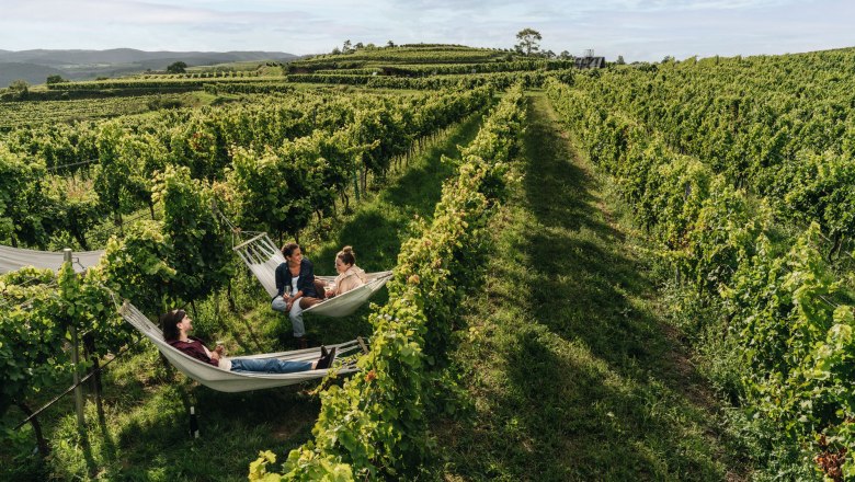
<path fill-rule="evenodd" d="M 470 416 L 438 422 L 445 480 L 734 479 L 715 404 L 663 321 L 648 250 L 543 95 L 525 179 L 455 355 Z"/>

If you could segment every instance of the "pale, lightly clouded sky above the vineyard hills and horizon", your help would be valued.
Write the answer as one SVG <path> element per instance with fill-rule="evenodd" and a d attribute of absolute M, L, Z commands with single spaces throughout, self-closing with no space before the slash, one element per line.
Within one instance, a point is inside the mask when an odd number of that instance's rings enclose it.
<path fill-rule="evenodd" d="M 855 46 L 851 0 L 0 0 L 0 49 L 330 51 L 387 41 L 542 47 L 627 61 Z"/>

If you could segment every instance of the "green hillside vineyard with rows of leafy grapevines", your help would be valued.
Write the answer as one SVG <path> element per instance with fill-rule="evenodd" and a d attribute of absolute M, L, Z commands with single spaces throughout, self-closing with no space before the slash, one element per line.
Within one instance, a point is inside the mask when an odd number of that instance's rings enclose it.
<path fill-rule="evenodd" d="M 0 274 L 0 479 L 855 479 L 855 50 L 602 69 L 451 45 L 337 51 L 0 91 L 0 244 L 104 250 L 84 274 Z M 532 181 L 537 152 L 556 184 Z M 531 228 L 567 206 L 579 219 Z M 364 336 L 335 365 L 354 375 L 221 397 L 122 321 L 123 299 L 152 320 L 185 307 L 235 354 L 290 348 L 230 249 L 260 232 L 298 240 L 318 274 L 343 245 L 394 272 L 355 314 L 307 318 L 315 346 Z M 598 242 L 632 254 L 585 254 Z M 594 273 L 591 290 L 521 284 L 547 268 Z M 531 318 L 508 308 L 520 294 Z M 646 346 L 597 358 L 578 320 L 555 321 L 581 298 L 626 322 L 603 330 L 620 349 L 666 333 L 681 375 L 657 378 Z M 58 397 L 75 371 L 98 379 L 86 426 Z M 703 389 L 681 386 L 689 371 Z M 552 403 L 539 416 L 561 428 L 538 428 L 526 390 L 569 399 L 575 377 L 602 398 Z M 202 440 L 184 434 L 191 405 Z M 501 423 L 475 422 L 490 410 Z M 715 428 L 686 447 L 637 433 L 696 418 Z M 606 467 L 585 431 L 638 457 Z"/>

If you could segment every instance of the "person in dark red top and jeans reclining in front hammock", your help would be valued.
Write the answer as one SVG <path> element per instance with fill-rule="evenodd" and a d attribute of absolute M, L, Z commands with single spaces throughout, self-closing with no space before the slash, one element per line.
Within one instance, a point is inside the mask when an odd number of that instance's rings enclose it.
<path fill-rule="evenodd" d="M 321 346 L 321 357 L 316 362 L 293 362 L 277 358 L 226 358 L 223 345 L 212 352 L 202 340 L 190 336 L 193 320 L 184 310 L 172 310 L 160 317 L 163 338 L 170 345 L 193 358 L 214 365 L 227 371 L 255 371 L 264 374 L 293 374 L 295 371 L 322 370 L 329 368 L 335 359 L 335 348 L 327 352 Z"/>

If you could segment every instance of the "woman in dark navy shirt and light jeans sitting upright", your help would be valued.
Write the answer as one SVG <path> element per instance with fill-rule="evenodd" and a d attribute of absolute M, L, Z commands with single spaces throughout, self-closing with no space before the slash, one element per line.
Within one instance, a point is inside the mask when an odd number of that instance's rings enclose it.
<path fill-rule="evenodd" d="M 306 347 L 306 326 L 303 324 L 303 310 L 323 300 L 323 284 L 315 280 L 315 267 L 303 257 L 297 243 L 282 248 L 285 263 L 276 267 L 276 296 L 271 308 L 287 312 L 294 337 L 300 348 Z"/>

